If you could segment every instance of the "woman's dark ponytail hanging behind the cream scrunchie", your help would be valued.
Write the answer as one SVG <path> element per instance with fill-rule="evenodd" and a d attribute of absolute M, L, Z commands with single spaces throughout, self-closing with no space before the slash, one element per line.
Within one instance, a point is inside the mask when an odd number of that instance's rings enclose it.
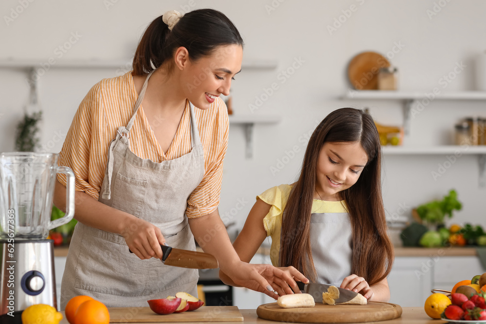
<path fill-rule="evenodd" d="M 132 63 L 133 75 L 150 73 L 154 68 L 162 65 L 166 59 L 163 57 L 164 47 L 170 33 L 169 26 L 162 20 L 162 16 L 152 21 L 143 33 L 135 51 Z"/>

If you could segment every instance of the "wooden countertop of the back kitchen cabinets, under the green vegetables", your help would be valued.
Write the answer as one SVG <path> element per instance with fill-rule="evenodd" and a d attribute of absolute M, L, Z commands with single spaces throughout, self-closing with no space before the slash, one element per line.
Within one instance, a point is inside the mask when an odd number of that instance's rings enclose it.
<path fill-rule="evenodd" d="M 200 248 L 198 248 L 202 251 Z M 68 247 L 54 248 L 54 256 L 67 256 Z M 257 254 L 269 256 L 270 248 L 260 247 Z M 477 256 L 474 247 L 442 247 L 442 248 L 419 248 L 419 247 L 395 247 L 395 256 Z"/>

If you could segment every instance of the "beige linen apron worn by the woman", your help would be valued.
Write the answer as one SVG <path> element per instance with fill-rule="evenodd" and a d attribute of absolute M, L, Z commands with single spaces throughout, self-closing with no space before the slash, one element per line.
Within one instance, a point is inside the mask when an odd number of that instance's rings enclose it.
<path fill-rule="evenodd" d="M 195 251 L 185 216 L 187 200 L 204 176 L 204 152 L 191 110 L 191 152 L 161 163 L 139 158 L 129 149 L 129 132 L 145 95 L 147 76 L 128 125 L 109 146 L 99 201 L 160 228 L 169 246 Z M 137 228 L 126 228 L 128 235 Z M 77 223 L 69 245 L 61 309 L 70 298 L 88 295 L 108 307 L 147 306 L 147 300 L 178 291 L 197 295 L 198 271 L 166 266 L 157 258 L 140 260 L 121 235 Z"/>

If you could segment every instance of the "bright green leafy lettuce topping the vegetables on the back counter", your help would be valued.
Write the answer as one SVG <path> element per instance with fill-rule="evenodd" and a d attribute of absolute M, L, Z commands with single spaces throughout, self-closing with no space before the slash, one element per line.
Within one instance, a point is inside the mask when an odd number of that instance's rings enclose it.
<path fill-rule="evenodd" d="M 451 190 L 441 201 L 435 200 L 418 206 L 417 213 L 420 219 L 427 223 L 443 224 L 445 216 L 451 218 L 453 210 L 461 209 L 462 204 L 457 200 L 457 192 Z"/>

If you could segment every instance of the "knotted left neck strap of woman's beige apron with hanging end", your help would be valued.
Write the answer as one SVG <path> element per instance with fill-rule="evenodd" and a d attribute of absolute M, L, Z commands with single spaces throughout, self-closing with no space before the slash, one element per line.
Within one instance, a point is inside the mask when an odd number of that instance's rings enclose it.
<path fill-rule="evenodd" d="M 147 78 L 145 79 L 145 82 L 143 83 L 142 89 L 139 94 L 139 98 L 137 99 L 137 102 L 135 102 L 135 107 L 133 111 L 132 118 L 130 121 L 128 121 L 128 124 L 126 126 L 120 126 L 118 127 L 117 130 L 117 135 L 114 140 L 111 141 L 110 146 L 108 148 L 108 161 L 106 164 L 106 174 L 105 176 L 108 178 L 106 182 L 106 186 L 104 187 L 103 193 L 101 198 L 110 200 L 111 199 L 111 178 L 113 175 L 113 161 L 114 161 L 114 156 L 113 156 L 113 148 L 115 147 L 116 143 L 121 140 L 125 144 L 128 144 L 128 138 L 130 138 L 130 129 L 133 126 L 133 123 L 135 121 L 135 117 L 137 116 L 137 111 L 139 111 L 140 105 L 142 104 L 143 97 L 145 96 L 145 91 L 147 90 L 147 85 L 149 83 L 149 79 L 152 76 L 152 73 L 154 73 L 155 70 L 151 71 L 148 75 Z"/>

